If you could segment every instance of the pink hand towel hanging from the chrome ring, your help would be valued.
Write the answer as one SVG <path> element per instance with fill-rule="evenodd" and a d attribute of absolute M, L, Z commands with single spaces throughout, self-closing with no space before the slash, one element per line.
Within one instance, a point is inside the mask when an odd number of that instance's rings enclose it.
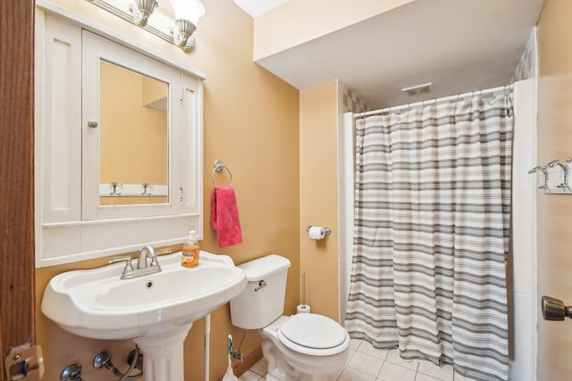
<path fill-rule="evenodd" d="M 220 247 L 242 243 L 239 209 L 232 186 L 214 186 L 211 199 L 211 225 Z"/>

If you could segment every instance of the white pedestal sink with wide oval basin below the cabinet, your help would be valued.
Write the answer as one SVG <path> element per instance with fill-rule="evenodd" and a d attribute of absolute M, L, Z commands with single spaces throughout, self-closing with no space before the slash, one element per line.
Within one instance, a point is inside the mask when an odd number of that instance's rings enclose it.
<path fill-rule="evenodd" d="M 73 270 L 46 286 L 42 312 L 64 330 L 96 339 L 131 339 L 145 353 L 147 381 L 183 381 L 183 342 L 193 321 L 247 286 L 226 255 L 201 252 L 197 268 L 181 253 L 158 258 L 161 272 L 120 279 L 124 265 Z"/>

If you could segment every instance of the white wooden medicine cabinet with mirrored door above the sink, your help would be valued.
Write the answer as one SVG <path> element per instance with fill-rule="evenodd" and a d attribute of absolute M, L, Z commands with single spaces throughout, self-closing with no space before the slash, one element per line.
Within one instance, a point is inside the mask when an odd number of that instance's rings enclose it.
<path fill-rule="evenodd" d="M 204 74 L 36 9 L 36 265 L 202 236 Z"/>

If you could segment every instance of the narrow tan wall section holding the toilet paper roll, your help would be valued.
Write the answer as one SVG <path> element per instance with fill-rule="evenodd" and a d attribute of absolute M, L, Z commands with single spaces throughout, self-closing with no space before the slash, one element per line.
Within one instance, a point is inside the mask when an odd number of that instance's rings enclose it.
<path fill-rule="evenodd" d="M 338 83 L 300 91 L 300 272 L 312 312 L 338 320 Z M 332 228 L 310 239 L 309 225 Z"/>

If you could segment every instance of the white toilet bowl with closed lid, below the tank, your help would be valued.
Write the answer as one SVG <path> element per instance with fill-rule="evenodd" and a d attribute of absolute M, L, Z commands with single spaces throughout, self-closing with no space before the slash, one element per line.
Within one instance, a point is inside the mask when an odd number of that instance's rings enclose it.
<path fill-rule="evenodd" d="M 349 335 L 317 314 L 282 316 L 260 331 L 269 381 L 333 381 L 349 357 Z"/>

